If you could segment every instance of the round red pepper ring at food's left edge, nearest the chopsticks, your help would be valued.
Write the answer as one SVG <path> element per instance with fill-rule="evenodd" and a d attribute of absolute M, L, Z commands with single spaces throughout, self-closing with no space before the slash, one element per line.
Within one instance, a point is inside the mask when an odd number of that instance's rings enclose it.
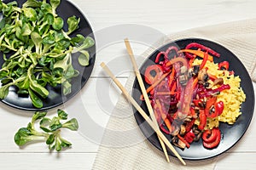
<path fill-rule="evenodd" d="M 154 74 L 154 75 L 153 75 Z M 160 65 L 149 65 L 145 71 L 144 77 L 148 84 L 153 84 L 163 75 Z"/>

